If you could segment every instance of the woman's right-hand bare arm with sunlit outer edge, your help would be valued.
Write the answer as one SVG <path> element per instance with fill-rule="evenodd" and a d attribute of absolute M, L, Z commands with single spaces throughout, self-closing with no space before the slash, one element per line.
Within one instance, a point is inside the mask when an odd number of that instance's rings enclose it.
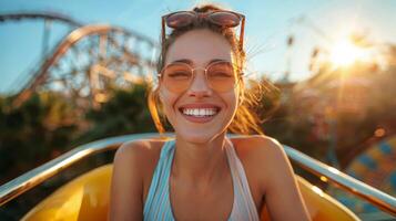
<path fill-rule="evenodd" d="M 257 156 L 266 159 L 260 162 L 261 168 L 265 168 L 261 180 L 271 220 L 311 220 L 283 147 L 272 138 L 260 137 L 258 140 Z"/>

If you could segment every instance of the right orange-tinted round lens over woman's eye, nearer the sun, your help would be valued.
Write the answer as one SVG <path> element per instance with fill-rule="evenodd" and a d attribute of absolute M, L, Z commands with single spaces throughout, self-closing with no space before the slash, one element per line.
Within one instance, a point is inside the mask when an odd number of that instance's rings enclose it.
<path fill-rule="evenodd" d="M 207 82 L 214 91 L 227 92 L 235 86 L 236 74 L 230 62 L 211 64 L 206 74 Z"/>

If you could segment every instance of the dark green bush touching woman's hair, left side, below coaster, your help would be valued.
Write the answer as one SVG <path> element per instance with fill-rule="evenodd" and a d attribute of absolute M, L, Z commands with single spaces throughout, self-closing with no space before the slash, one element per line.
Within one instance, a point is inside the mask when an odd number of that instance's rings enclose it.
<path fill-rule="evenodd" d="M 78 143 L 124 134 L 155 131 L 146 106 L 148 85 L 138 84 L 129 90 L 114 90 L 109 102 L 100 108 L 90 108 L 84 115 L 89 128 Z"/>

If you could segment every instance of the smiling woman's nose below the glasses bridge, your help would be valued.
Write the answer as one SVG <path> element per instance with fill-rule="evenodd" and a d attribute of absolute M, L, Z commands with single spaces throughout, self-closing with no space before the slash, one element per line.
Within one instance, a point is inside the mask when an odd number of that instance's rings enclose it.
<path fill-rule="evenodd" d="M 212 95 L 212 90 L 207 85 L 204 70 L 195 69 L 195 75 L 189 88 L 189 95 L 194 97 L 205 97 Z"/>

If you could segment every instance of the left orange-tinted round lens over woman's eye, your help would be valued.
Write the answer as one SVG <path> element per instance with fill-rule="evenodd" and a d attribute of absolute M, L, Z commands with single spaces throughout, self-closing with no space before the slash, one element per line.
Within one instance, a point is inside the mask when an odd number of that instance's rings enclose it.
<path fill-rule="evenodd" d="M 164 86 L 176 93 L 187 90 L 192 80 L 191 67 L 183 63 L 169 64 L 162 74 Z"/>

